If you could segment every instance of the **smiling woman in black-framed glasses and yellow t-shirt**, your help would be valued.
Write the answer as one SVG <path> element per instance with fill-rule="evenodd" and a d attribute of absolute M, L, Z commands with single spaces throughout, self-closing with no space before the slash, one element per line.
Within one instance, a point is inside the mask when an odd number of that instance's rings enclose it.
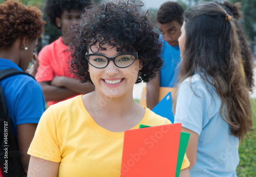
<path fill-rule="evenodd" d="M 120 176 L 124 131 L 171 123 L 133 99 L 134 84 L 154 78 L 162 65 L 159 34 L 141 6 L 102 2 L 83 14 L 71 69 L 95 91 L 42 115 L 28 151 L 28 176 Z M 190 176 L 188 166 L 185 156 L 180 176 Z"/>

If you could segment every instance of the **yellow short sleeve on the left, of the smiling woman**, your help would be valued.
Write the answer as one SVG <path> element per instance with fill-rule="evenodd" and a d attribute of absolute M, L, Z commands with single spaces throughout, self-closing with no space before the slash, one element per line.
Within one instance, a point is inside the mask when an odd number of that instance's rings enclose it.
<path fill-rule="evenodd" d="M 61 161 L 59 141 L 56 133 L 56 119 L 51 108 L 48 108 L 42 115 L 28 154 L 48 161 Z"/>

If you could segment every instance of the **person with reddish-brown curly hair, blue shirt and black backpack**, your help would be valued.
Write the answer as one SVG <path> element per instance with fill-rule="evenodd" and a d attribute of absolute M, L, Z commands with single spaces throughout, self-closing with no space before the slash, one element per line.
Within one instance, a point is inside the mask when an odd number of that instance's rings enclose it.
<path fill-rule="evenodd" d="M 45 25 L 41 19 L 41 11 L 35 7 L 26 7 L 16 1 L 8 0 L 0 4 L 0 24 L 1 73 L 11 68 L 26 71 L 33 58 L 33 65 L 27 72 L 35 75 L 38 59 L 33 53 L 37 39 Z M 28 147 L 34 137 L 37 123 L 45 111 L 44 95 L 40 85 L 32 77 L 25 74 L 11 75 L 1 80 L 0 84 L 11 119 L 12 131 L 17 138 L 18 150 L 23 155 L 20 156 L 23 165 L 23 169 L 20 171 L 23 171 L 21 173 L 25 175 L 30 159 L 27 154 Z M 17 166 L 13 166 L 11 161 L 8 165 L 8 175 L 20 176 L 20 173 L 19 175 L 14 174 L 11 170 L 11 167 L 17 170 Z M 5 172 L 3 171 L 3 173 Z"/>

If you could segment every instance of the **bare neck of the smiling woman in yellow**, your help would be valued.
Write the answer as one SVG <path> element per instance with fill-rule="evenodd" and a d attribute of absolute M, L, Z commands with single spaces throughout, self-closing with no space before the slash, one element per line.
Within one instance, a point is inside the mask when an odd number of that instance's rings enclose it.
<path fill-rule="evenodd" d="M 99 96 L 94 91 L 84 96 L 87 96 L 84 97 L 86 109 L 94 121 L 111 132 L 132 129 L 145 114 L 145 109 L 134 101 L 132 93 L 126 93 L 119 98 L 109 98 Z"/>

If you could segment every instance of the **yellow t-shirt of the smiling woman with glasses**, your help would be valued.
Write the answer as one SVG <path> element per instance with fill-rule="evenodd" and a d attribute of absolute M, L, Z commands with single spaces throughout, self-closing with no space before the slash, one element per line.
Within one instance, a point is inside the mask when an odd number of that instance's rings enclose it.
<path fill-rule="evenodd" d="M 140 124 L 171 123 L 145 108 Z M 28 154 L 60 162 L 59 176 L 120 176 L 124 132 L 100 127 L 87 112 L 82 96 L 51 106 L 42 115 Z M 184 157 L 181 169 L 189 162 Z"/>

